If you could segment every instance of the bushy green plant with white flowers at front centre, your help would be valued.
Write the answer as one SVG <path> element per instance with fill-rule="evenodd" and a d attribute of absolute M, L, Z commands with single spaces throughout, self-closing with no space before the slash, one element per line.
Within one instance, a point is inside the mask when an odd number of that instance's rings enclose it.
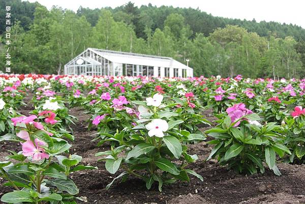
<path fill-rule="evenodd" d="M 188 174 L 193 174 L 201 181 L 203 178 L 191 169 L 188 163 L 197 160 L 197 155 L 189 155 L 185 141 L 200 138 L 186 130 L 179 130 L 178 124 L 184 121 L 173 120 L 177 113 L 170 111 L 169 107 L 175 104 L 163 105 L 163 96 L 155 94 L 153 98 L 145 101 L 133 101 L 139 105 L 139 120 L 137 126 L 117 131 L 114 135 L 104 134 L 106 137 L 100 141 L 111 142 L 111 150 L 97 153 L 96 156 L 105 155 L 106 169 L 114 174 L 118 169 L 124 169 L 110 184 L 117 179 L 126 180 L 133 175 L 146 182 L 150 189 L 159 183 L 162 191 L 163 184 L 171 184 L 177 180 L 189 182 Z M 102 133 L 103 134 L 103 133 Z M 203 138 L 201 136 L 201 138 Z M 120 153 L 124 152 L 124 156 Z M 176 162 L 172 162 L 176 160 Z"/>

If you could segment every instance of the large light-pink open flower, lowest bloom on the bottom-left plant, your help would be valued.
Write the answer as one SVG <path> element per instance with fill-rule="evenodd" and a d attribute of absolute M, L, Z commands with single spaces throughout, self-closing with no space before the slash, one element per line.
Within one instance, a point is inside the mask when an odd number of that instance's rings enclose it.
<path fill-rule="evenodd" d="M 47 143 L 45 143 L 44 141 L 36 138 L 35 139 L 35 145 L 33 144 L 33 142 L 31 140 L 28 140 L 24 143 L 22 143 L 22 154 L 26 157 L 28 156 L 32 156 L 33 160 L 41 160 L 41 159 L 48 159 L 49 155 L 46 154 L 44 152 L 44 149 L 42 149 L 42 146 L 47 146 Z"/>

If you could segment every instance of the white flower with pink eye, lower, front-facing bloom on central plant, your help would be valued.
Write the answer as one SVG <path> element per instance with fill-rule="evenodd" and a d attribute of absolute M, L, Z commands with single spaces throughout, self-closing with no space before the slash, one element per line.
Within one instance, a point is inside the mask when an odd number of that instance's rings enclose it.
<path fill-rule="evenodd" d="M 145 128 L 148 131 L 148 136 L 156 136 L 156 137 L 163 137 L 165 131 L 168 130 L 168 124 L 166 121 L 161 119 L 154 119 L 147 125 L 145 125 Z"/>

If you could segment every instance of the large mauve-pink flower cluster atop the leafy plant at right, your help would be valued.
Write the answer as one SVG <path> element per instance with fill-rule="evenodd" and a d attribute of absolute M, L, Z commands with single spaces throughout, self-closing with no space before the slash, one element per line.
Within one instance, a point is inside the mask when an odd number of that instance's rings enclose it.
<path fill-rule="evenodd" d="M 253 113 L 251 110 L 246 108 L 246 105 L 243 103 L 237 103 L 231 107 L 227 108 L 227 113 L 231 118 L 232 123 L 240 119 L 242 116 Z M 247 119 L 242 119 L 247 120 Z M 237 127 L 240 124 L 238 121 L 233 127 Z"/>

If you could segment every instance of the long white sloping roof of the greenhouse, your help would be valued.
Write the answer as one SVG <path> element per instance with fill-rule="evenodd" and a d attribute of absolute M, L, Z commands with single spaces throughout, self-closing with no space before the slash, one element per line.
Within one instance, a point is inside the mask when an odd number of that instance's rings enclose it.
<path fill-rule="evenodd" d="M 118 51 L 95 49 L 95 48 L 88 48 L 88 49 L 101 55 L 102 57 L 113 63 L 192 69 L 172 59 L 171 57 L 136 54 L 130 52 L 118 52 Z"/>

